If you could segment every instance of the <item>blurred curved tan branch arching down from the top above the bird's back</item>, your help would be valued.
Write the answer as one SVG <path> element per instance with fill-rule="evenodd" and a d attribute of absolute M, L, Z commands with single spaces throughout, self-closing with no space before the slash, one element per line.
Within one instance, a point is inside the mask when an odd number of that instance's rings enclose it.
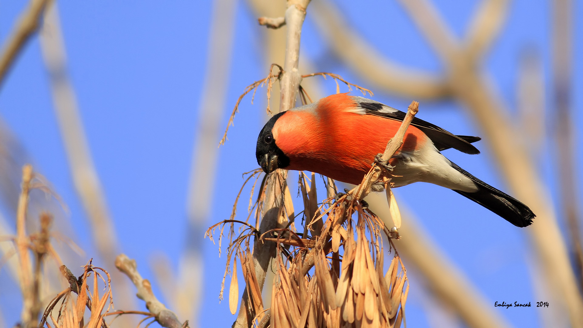
<path fill-rule="evenodd" d="M 328 1 L 312 4 L 314 20 L 335 54 L 352 70 L 377 89 L 415 99 L 442 98 L 449 95 L 445 79 L 438 75 L 405 68 L 383 57 L 364 41 Z"/>

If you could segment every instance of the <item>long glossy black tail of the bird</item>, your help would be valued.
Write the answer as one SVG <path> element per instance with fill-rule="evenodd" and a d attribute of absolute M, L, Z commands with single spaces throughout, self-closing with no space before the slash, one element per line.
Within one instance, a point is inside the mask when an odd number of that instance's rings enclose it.
<path fill-rule="evenodd" d="M 486 207 L 488 210 L 500 215 L 500 217 L 515 226 L 522 228 L 532 224 L 532 218 L 536 215 L 530 208 L 528 208 L 528 206 L 490 186 L 482 180 L 477 179 L 477 177 L 470 175 L 468 172 L 455 165 L 455 163 L 451 163 L 451 165 L 463 175 L 472 179 L 478 187 L 478 190 L 475 193 L 454 190 L 456 193 L 462 194 L 470 200 Z"/>

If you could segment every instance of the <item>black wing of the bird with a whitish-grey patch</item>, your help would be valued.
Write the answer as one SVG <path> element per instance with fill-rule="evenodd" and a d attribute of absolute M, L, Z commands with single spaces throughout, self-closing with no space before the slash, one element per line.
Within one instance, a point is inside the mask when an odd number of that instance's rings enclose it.
<path fill-rule="evenodd" d="M 393 107 L 363 97 L 353 97 L 353 99 L 364 110 L 364 114 L 391 118 L 391 120 L 397 121 L 403 121 L 405 119 L 405 113 L 396 110 Z M 472 142 L 479 141 L 481 139 L 480 137 L 455 135 L 443 130 L 437 125 L 431 124 L 417 117 L 413 118 L 411 125 L 414 125 L 419 128 L 419 130 L 423 131 L 423 133 L 433 141 L 433 144 L 438 151 L 454 148 L 458 151 L 472 155 L 480 153 L 480 151 L 471 144 Z"/>

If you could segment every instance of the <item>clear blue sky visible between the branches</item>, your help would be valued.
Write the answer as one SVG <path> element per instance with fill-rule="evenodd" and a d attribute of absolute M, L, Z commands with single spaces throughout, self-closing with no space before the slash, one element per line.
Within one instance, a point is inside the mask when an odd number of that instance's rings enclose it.
<path fill-rule="evenodd" d="M 317 0 L 314 0 L 317 1 Z M 463 36 L 477 1 L 435 1 L 445 21 Z M 0 37 L 5 39 L 24 2 L 0 2 Z M 440 72 L 442 67 L 415 25 L 395 1 L 338 1 L 350 24 L 384 55 L 410 67 Z M 526 46 L 540 51 L 550 81 L 550 4 L 520 0 L 510 5 L 503 33 L 486 57 L 486 69 L 510 108 L 515 107 L 519 54 Z M 198 125 L 206 46 L 212 3 L 209 1 L 63 1 L 59 14 L 64 31 L 68 68 L 85 125 L 87 139 L 101 184 L 107 197 L 123 252 L 135 258 L 142 274 L 152 277 L 147 263 L 153 253 L 166 253 L 176 268 L 186 238 L 186 209 L 189 169 L 195 128 Z M 581 2 L 575 2 L 575 13 Z M 331 71 L 368 87 L 332 57 L 325 40 L 318 35 L 308 8 L 301 51 L 317 65 L 316 71 Z M 265 76 L 259 50 L 262 27 L 243 1 L 238 2 L 236 33 L 225 113 L 245 86 Z M 582 122 L 583 83 L 581 22 L 575 22 L 574 123 Z M 326 93 L 334 93 L 332 81 L 324 83 Z M 547 104 L 550 104 L 547 88 Z M 258 95 L 264 90 L 259 90 Z M 375 100 L 406 108 L 411 99 L 402 99 L 374 90 Z M 259 98 L 259 96 L 258 96 Z M 454 102 L 422 103 L 419 117 L 454 132 L 482 135 L 472 118 Z M 244 100 L 241 113 L 229 132 L 229 141 L 220 148 L 219 170 L 208 225 L 228 218 L 232 201 L 241 183 L 241 173 L 257 167 L 255 139 L 262 127 L 264 107 L 260 101 Z M 552 111 L 547 106 L 547 131 L 552 132 Z M 55 120 L 48 76 L 34 37 L 17 58 L 0 89 L 0 116 L 33 158 L 70 210 L 75 240 L 87 256 L 95 253 L 79 198 L 76 196 L 64 147 Z M 226 124 L 227 117 L 223 118 Z M 579 138 L 577 138 L 578 140 Z M 498 177 L 487 141 L 477 143 L 481 155 L 446 151 L 480 179 L 508 190 Z M 553 145 L 545 151 L 552 156 Z M 581 146 L 577 145 L 581 159 Z M 233 161 L 233 159 L 236 159 Z M 236 165 L 233 165 L 236 163 Z M 554 197 L 555 170 L 552 160 L 539 164 L 543 180 Z M 577 177 L 578 181 L 580 177 Z M 581 184 L 578 184 L 581 185 Z M 493 304 L 494 301 L 544 301 L 535 299 L 527 265 L 528 238 L 524 231 L 458 194 L 429 184 L 414 184 L 395 190 L 399 201 L 415 212 L 419 221 L 448 256 Z M 244 211 L 241 210 L 241 213 Z M 448 238 L 438 238 L 448 226 Z M 495 234 L 492 231 L 496 231 Z M 217 295 L 224 269 L 217 247 L 206 240 L 205 288 L 200 323 L 230 326 L 234 316 L 228 303 L 219 304 Z M 0 272 L 0 280 L 7 277 Z M 412 279 L 408 302 L 408 324 L 428 327 L 423 312 L 420 282 Z M 414 292 L 415 289 L 417 292 Z M 0 282 L 0 309 L 6 323 L 19 317 L 13 303 L 16 288 Z M 12 300 L 12 302 L 10 302 Z M 516 327 L 538 327 L 536 308 L 497 309 Z"/>

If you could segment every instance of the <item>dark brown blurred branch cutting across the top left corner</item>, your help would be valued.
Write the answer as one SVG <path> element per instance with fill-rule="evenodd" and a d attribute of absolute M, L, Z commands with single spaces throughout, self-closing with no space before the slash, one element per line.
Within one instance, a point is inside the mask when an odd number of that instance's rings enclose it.
<path fill-rule="evenodd" d="M 20 19 L 12 29 L 8 41 L 2 47 L 0 55 L 0 84 L 6 77 L 6 72 L 12 65 L 16 55 L 20 52 L 24 43 L 38 29 L 38 19 L 43 13 L 48 0 L 31 0 Z"/>

